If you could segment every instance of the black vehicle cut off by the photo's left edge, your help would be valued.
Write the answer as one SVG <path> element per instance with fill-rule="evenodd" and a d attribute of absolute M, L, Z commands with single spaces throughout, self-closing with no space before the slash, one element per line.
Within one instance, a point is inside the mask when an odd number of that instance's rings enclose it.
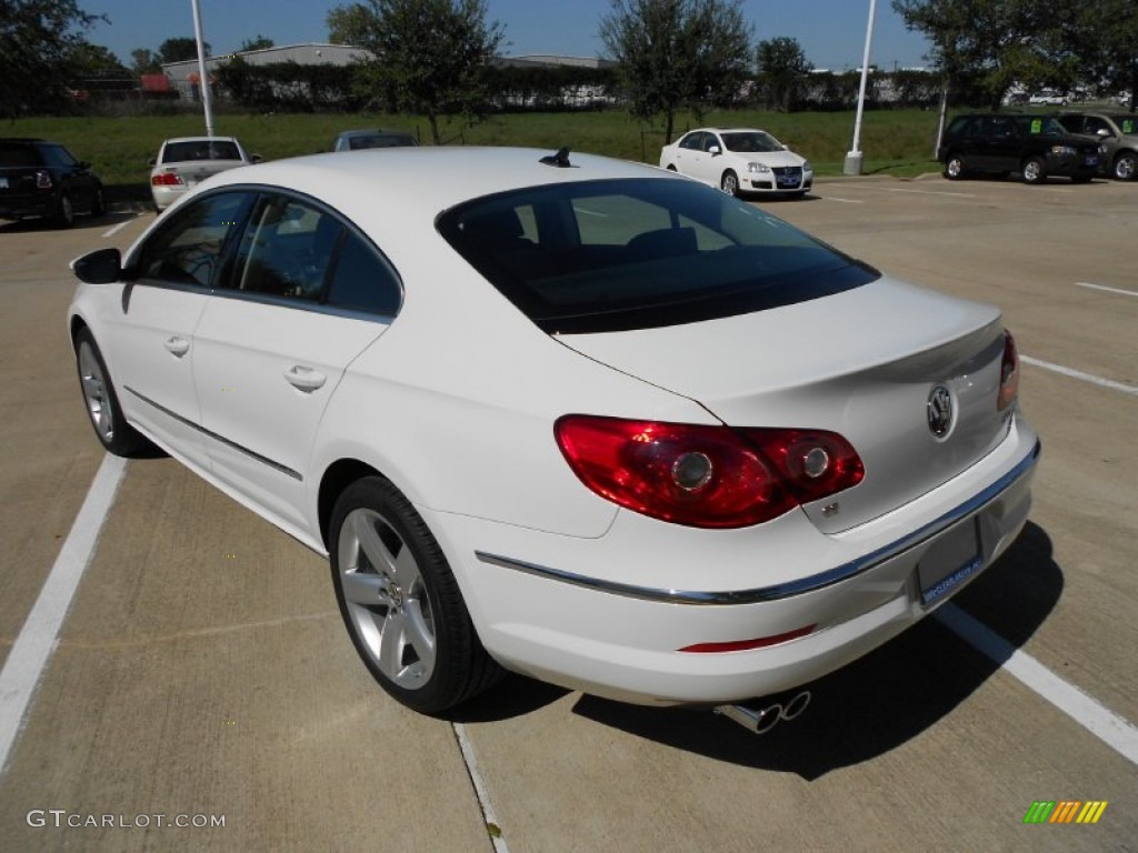
<path fill-rule="evenodd" d="M 69 227 L 76 213 L 102 216 L 106 209 L 90 163 L 46 139 L 0 139 L 0 218 L 44 216 Z"/>

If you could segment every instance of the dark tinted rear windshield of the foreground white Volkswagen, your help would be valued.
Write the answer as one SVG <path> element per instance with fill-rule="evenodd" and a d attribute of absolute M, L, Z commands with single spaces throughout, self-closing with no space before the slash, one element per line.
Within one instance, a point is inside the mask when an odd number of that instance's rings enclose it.
<path fill-rule="evenodd" d="M 748 314 L 879 278 L 782 220 L 685 180 L 535 187 L 469 201 L 437 226 L 550 333 Z"/>

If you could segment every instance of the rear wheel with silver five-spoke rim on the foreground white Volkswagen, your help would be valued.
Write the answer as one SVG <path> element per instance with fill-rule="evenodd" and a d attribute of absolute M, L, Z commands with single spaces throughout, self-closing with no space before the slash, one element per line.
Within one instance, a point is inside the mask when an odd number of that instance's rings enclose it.
<path fill-rule="evenodd" d="M 397 702 L 438 714 L 501 677 L 438 541 L 390 482 L 368 477 L 344 490 L 328 550 L 352 644 Z"/>

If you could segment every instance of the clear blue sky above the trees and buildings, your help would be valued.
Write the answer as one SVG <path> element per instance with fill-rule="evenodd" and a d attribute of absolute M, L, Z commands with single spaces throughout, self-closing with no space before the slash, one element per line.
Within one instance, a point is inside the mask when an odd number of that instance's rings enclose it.
<path fill-rule="evenodd" d="M 199 0 L 205 40 L 214 53 L 230 53 L 256 35 L 277 44 L 327 41 L 328 10 L 343 0 Z M 193 35 L 190 0 L 80 0 L 97 24 L 88 38 L 127 65 L 131 50 L 157 50 L 166 39 Z M 609 0 L 488 0 L 489 18 L 505 25 L 506 56 L 560 53 L 600 56 L 596 31 Z M 743 14 L 756 40 L 792 36 L 818 68 L 861 65 L 868 0 L 744 0 Z M 877 1 L 871 61 L 883 68 L 923 65 L 927 43 L 905 30 L 889 0 Z"/>

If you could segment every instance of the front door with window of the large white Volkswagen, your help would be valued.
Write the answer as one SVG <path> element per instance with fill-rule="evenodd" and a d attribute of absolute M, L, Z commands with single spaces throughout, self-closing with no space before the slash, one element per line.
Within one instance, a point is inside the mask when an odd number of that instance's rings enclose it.
<path fill-rule="evenodd" d="M 126 260 L 122 298 L 102 317 L 122 405 L 160 445 L 208 466 L 193 387 L 193 332 L 226 242 L 250 201 L 222 192 L 191 201 Z"/>

